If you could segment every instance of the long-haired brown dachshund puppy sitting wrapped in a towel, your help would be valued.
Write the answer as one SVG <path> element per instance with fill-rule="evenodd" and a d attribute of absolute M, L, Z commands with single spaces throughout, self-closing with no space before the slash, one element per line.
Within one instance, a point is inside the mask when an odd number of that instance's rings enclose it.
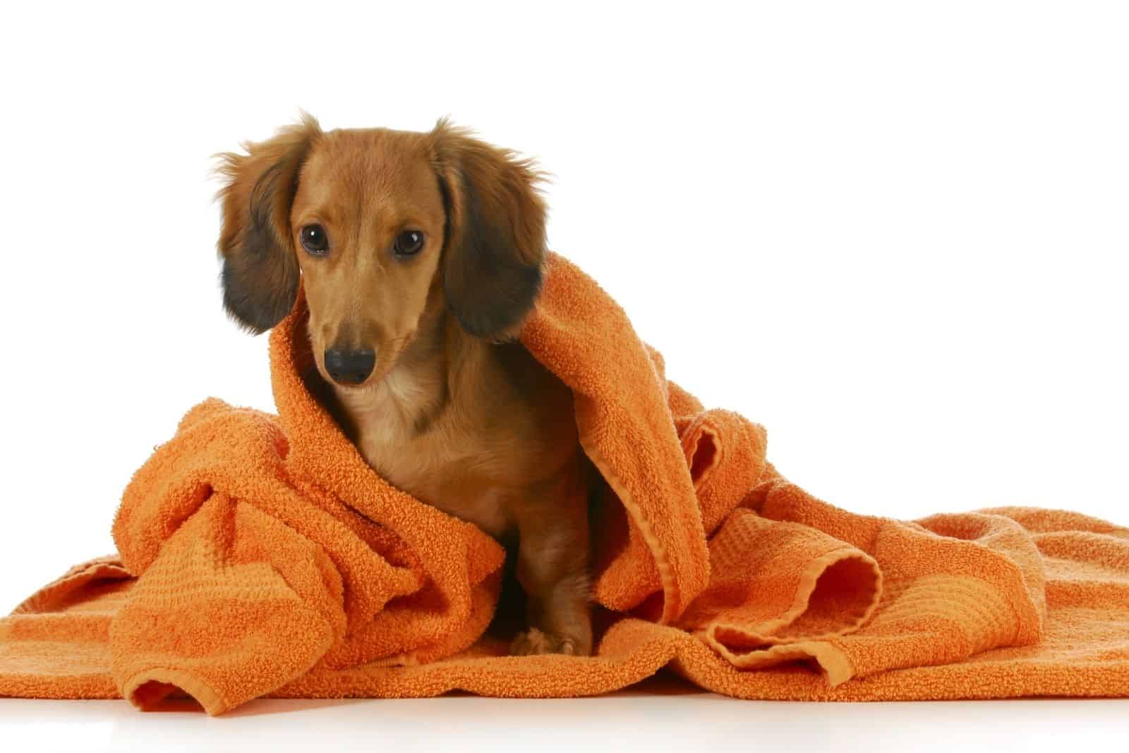
<path fill-rule="evenodd" d="M 222 154 L 224 303 L 261 333 L 309 303 L 326 407 L 376 471 L 496 538 L 517 533 L 516 654 L 588 654 L 588 496 L 572 395 L 513 336 L 541 287 L 530 161 L 440 121 Z"/>

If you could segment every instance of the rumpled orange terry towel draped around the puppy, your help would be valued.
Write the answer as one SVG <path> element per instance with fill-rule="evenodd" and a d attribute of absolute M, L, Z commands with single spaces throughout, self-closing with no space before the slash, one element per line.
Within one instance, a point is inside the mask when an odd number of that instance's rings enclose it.
<path fill-rule="evenodd" d="M 576 395 L 611 487 L 593 657 L 484 637 L 502 550 L 397 491 L 312 397 L 305 305 L 271 336 L 279 416 L 208 400 L 125 490 L 120 558 L 0 621 L 0 696 L 586 696 L 664 666 L 741 698 L 1129 696 L 1129 531 L 986 510 L 900 522 L 820 502 L 760 426 L 703 410 L 552 257 L 522 333 Z M 912 493 L 912 491 L 910 491 Z"/>

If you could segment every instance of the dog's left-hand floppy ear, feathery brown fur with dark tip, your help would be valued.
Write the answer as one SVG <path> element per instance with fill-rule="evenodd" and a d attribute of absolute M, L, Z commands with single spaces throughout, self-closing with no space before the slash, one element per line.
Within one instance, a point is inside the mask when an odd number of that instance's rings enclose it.
<path fill-rule="evenodd" d="M 281 129 L 273 138 L 245 143 L 246 154 L 219 154 L 217 171 L 226 179 L 219 192 L 224 307 L 255 334 L 288 315 L 298 293 L 290 205 L 298 189 L 298 172 L 321 133 L 317 121 L 303 113 L 297 124 Z"/>

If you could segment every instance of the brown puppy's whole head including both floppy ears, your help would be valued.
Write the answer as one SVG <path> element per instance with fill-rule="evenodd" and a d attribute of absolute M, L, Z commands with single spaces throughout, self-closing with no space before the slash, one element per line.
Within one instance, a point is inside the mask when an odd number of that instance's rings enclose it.
<path fill-rule="evenodd" d="M 511 335 L 545 255 L 540 174 L 440 121 L 430 133 L 323 132 L 306 116 L 221 156 L 224 304 L 262 333 L 299 277 L 322 374 L 380 379 L 444 307 L 473 336 Z"/>

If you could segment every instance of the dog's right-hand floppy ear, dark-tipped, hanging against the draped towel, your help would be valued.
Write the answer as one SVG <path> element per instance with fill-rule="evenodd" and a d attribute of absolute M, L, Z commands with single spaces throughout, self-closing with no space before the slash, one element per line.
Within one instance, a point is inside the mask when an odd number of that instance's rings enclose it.
<path fill-rule="evenodd" d="M 447 211 L 443 284 L 471 335 L 515 334 L 541 291 L 545 258 L 543 176 L 532 160 L 439 121 L 432 165 Z"/>

